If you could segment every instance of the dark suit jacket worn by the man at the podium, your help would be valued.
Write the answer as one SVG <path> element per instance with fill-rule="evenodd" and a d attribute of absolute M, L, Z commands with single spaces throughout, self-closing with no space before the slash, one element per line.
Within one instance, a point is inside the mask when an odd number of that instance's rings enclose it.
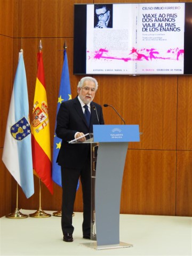
<path fill-rule="evenodd" d="M 64 101 L 57 115 L 57 137 L 62 139 L 57 162 L 59 165 L 71 169 L 81 168 L 87 157 L 90 157 L 90 145 L 86 143 L 69 144 L 68 141 L 74 139 L 76 132 L 92 133 L 93 124 L 104 124 L 102 108 L 95 102 L 91 102 L 91 121 L 90 127 L 86 123 L 81 103 L 78 98 Z M 93 109 L 97 108 L 97 113 Z"/>

